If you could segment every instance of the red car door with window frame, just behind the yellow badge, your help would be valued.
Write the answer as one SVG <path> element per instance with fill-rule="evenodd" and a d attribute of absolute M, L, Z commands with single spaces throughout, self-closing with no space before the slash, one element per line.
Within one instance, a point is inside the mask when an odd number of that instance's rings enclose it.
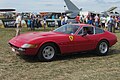
<path fill-rule="evenodd" d="M 84 27 L 78 32 L 77 35 L 74 36 L 74 45 L 75 45 L 75 51 L 86 51 L 86 50 L 92 50 L 95 47 L 95 40 L 94 37 L 94 27 L 91 26 L 85 26 L 86 28 L 91 28 L 92 34 L 87 34 L 83 36 L 83 29 Z"/>

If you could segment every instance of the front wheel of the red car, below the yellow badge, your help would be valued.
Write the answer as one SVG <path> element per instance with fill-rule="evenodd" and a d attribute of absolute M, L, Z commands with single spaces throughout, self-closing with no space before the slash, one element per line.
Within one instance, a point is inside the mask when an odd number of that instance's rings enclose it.
<path fill-rule="evenodd" d="M 44 44 L 39 52 L 38 52 L 38 59 L 40 61 L 52 61 L 57 53 L 57 48 L 52 43 L 46 43 Z"/>

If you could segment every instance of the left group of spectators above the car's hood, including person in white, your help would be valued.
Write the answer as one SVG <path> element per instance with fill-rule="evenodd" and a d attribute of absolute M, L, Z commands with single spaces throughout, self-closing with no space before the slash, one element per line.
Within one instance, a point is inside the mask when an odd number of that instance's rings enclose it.
<path fill-rule="evenodd" d="M 15 26 L 16 26 L 16 36 L 18 36 L 20 34 L 20 30 L 21 27 L 23 27 L 21 24 L 22 20 L 23 20 L 23 16 L 21 14 L 17 14 L 16 15 L 16 21 L 15 21 Z M 27 24 L 27 28 L 30 30 L 35 30 L 35 28 L 40 28 L 40 27 L 44 27 L 44 30 L 47 27 L 47 22 L 46 22 L 47 16 L 37 16 L 35 14 L 31 14 L 27 19 L 24 19 L 26 24 Z"/>

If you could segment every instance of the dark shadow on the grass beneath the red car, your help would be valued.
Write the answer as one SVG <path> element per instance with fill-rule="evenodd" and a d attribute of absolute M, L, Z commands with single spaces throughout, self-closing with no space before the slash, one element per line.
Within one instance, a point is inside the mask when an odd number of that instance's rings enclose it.
<path fill-rule="evenodd" d="M 115 54 L 120 54 L 120 50 L 110 49 L 107 56 L 111 56 Z M 40 62 L 37 56 L 19 55 L 19 57 L 21 59 L 24 59 L 26 62 L 30 62 L 30 63 Z M 57 55 L 53 61 L 64 61 L 64 60 L 73 60 L 77 58 L 90 58 L 90 57 L 101 57 L 101 56 L 97 56 L 93 52 L 79 52 L 79 53 L 72 53 L 66 55 Z"/>

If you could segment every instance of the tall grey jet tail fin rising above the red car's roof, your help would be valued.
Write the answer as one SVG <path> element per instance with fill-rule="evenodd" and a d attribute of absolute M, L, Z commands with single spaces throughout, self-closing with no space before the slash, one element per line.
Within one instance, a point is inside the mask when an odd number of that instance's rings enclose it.
<path fill-rule="evenodd" d="M 82 11 L 82 8 L 78 8 L 75 4 L 73 4 L 70 0 L 64 0 L 66 3 L 66 6 L 68 10 L 65 11 L 66 15 L 69 18 L 75 18 L 78 14 L 80 14 L 80 11 Z M 64 7 L 66 7 L 64 6 Z"/>

